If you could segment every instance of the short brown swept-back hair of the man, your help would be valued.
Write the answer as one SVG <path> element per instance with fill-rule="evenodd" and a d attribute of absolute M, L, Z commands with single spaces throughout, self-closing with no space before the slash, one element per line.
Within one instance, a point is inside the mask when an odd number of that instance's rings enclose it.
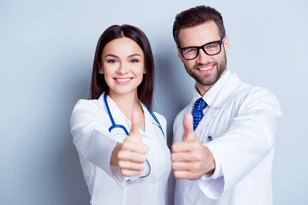
<path fill-rule="evenodd" d="M 172 29 L 177 46 L 180 48 L 178 35 L 181 29 L 199 26 L 211 20 L 216 23 L 219 29 L 219 35 L 223 38 L 226 35 L 226 31 L 223 25 L 221 13 L 216 9 L 209 6 L 197 6 L 177 14 Z"/>

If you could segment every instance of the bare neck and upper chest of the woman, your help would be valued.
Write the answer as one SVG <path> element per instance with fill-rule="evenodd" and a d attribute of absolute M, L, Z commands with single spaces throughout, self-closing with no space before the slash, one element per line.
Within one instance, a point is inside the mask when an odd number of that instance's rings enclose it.
<path fill-rule="evenodd" d="M 143 115 L 143 110 L 138 99 L 137 89 L 125 94 L 120 94 L 110 89 L 108 95 L 129 120 L 131 120 L 133 110 L 138 111 L 138 113 L 142 113 Z"/>

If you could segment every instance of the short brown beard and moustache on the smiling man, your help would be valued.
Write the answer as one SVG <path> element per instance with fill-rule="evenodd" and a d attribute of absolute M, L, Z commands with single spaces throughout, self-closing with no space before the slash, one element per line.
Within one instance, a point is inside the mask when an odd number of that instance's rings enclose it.
<path fill-rule="evenodd" d="M 196 68 L 204 68 L 210 65 L 215 64 L 215 70 L 211 74 L 202 74 L 200 73 Z M 211 86 L 216 84 L 218 79 L 221 77 L 222 73 L 226 69 L 227 66 L 227 57 L 226 54 L 224 54 L 224 57 L 219 62 L 217 61 L 211 61 L 207 64 L 196 64 L 192 68 L 188 68 L 185 63 L 184 67 L 187 71 L 187 73 L 193 77 L 197 83 L 201 84 L 202 86 Z"/>

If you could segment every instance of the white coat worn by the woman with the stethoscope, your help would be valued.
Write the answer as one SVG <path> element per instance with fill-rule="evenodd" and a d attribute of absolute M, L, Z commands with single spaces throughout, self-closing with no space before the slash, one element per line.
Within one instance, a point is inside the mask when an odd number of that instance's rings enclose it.
<path fill-rule="evenodd" d="M 129 132 L 131 121 L 109 96 L 107 101 L 115 124 L 125 126 Z M 71 134 L 79 153 L 92 205 L 165 204 L 171 170 L 170 150 L 157 122 L 143 104 L 142 108 L 145 132 L 140 132 L 143 143 L 149 148 L 146 157 L 151 172 L 143 179 L 125 182 L 128 177 L 121 175 L 119 167 L 110 166 L 110 156 L 117 142 L 122 143 L 127 135 L 119 128 L 109 133 L 108 128 L 112 124 L 105 106 L 104 93 L 98 100 L 82 99 L 75 105 L 70 119 Z M 156 112 L 154 114 L 166 136 L 166 119 Z M 141 176 L 146 175 L 148 170 L 145 163 Z"/>

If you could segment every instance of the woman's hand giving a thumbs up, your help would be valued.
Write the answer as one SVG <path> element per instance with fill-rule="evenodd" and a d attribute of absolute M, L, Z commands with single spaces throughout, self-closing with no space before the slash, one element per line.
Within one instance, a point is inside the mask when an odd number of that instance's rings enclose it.
<path fill-rule="evenodd" d="M 144 169 L 148 148 L 139 132 L 140 117 L 136 111 L 131 115 L 131 130 L 118 152 L 119 167 L 123 176 L 138 176 Z"/>

